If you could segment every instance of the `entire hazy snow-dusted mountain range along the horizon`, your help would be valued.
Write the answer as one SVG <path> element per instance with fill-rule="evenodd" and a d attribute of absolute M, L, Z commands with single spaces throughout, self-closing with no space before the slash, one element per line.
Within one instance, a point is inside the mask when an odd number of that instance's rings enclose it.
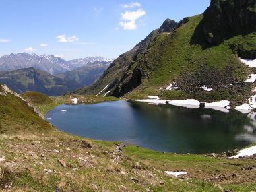
<path fill-rule="evenodd" d="M 58 73 L 71 71 L 77 67 L 82 67 L 82 65 L 86 65 L 88 62 L 95 61 L 112 60 L 99 56 L 65 61 L 64 59 L 61 59 L 60 57 L 55 57 L 54 55 L 30 55 L 28 53 L 11 53 L 10 55 L 3 55 L 2 57 L 0 57 L 0 71 L 34 67 L 36 69 L 46 71 L 51 75 L 56 75 Z"/>

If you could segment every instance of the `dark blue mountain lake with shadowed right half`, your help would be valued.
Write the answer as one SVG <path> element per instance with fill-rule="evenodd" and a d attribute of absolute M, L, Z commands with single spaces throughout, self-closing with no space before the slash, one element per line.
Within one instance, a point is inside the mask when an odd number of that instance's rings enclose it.
<path fill-rule="evenodd" d="M 115 101 L 57 106 L 46 119 L 73 135 L 165 152 L 224 152 L 256 142 L 255 114 L 210 108 Z"/>

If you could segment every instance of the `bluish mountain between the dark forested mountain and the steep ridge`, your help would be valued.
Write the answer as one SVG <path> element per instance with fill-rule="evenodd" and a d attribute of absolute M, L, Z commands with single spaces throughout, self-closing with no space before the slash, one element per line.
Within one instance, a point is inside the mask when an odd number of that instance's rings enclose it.
<path fill-rule="evenodd" d="M 108 62 L 94 61 L 93 63 L 88 61 L 86 65 L 83 65 L 82 67 L 78 67 L 77 69 L 67 71 L 65 73 L 59 73 L 56 76 L 65 80 L 75 80 L 79 84 L 82 84 L 82 86 L 89 86 L 103 74 L 103 72 L 109 67 L 110 63 L 111 60 Z"/>

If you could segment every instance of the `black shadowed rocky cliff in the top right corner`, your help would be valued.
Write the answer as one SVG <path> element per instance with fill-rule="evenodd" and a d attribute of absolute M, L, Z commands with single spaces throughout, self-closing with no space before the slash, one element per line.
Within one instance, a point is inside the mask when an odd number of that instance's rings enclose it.
<path fill-rule="evenodd" d="M 255 4 L 255 0 L 212 0 L 202 21 L 207 42 L 220 44 L 232 36 L 255 32 Z"/>

